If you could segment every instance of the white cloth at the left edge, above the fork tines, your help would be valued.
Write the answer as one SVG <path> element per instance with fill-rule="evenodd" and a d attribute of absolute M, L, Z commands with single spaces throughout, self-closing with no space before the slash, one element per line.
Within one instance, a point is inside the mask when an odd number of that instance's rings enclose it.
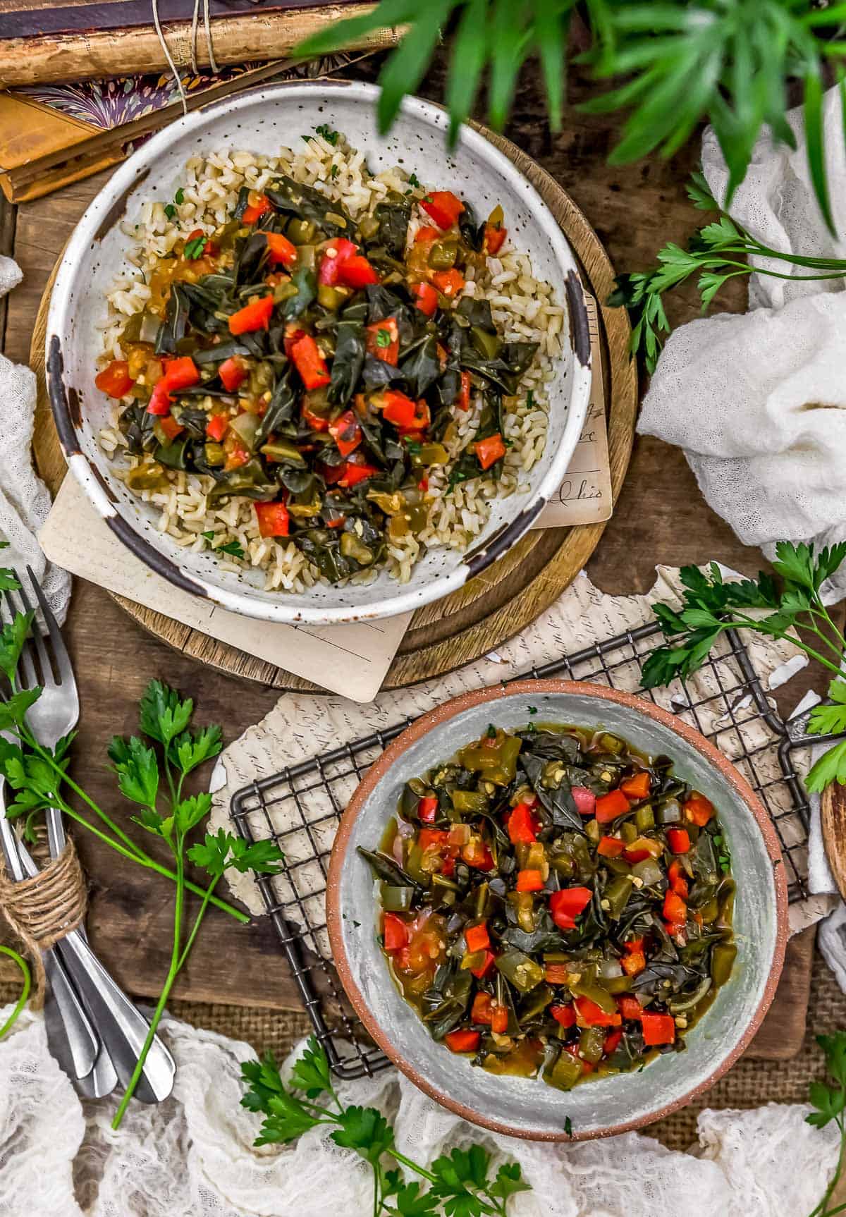
<path fill-rule="evenodd" d="M 17 263 L 0 256 L 0 297 L 22 279 Z M 32 566 L 50 607 L 65 621 L 71 599 L 71 576 L 47 565 L 35 533 L 47 518 L 50 493 L 32 461 L 35 416 L 35 374 L 0 355 L 0 566 L 23 571 Z"/>

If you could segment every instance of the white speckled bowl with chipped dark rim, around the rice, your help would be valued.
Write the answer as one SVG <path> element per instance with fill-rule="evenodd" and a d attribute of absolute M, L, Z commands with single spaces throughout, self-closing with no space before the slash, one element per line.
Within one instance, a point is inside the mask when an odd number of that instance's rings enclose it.
<path fill-rule="evenodd" d="M 121 540 L 177 587 L 250 617 L 332 624 L 391 617 L 461 587 L 515 544 L 555 493 L 578 441 L 590 392 L 590 343 L 576 259 L 534 187 L 482 135 L 465 129 L 454 155 L 444 144 L 447 119 L 435 106 L 407 99 L 390 135 L 376 133 L 372 85 L 314 82 L 247 91 L 166 128 L 122 166 L 83 215 L 62 258 L 50 303 L 46 366 L 50 400 L 68 464 L 97 512 Z M 564 352 L 549 386 L 547 450 L 528 475 L 528 490 L 493 500 L 483 533 L 465 554 L 430 550 L 411 581 L 387 572 L 365 587 L 319 583 L 299 595 L 265 591 L 260 571 L 222 571 L 209 554 L 186 553 L 156 529 L 158 512 L 113 476 L 96 436 L 108 402 L 94 388 L 95 326 L 105 293 L 124 265 L 130 239 L 121 221 L 145 200 L 173 197 L 189 156 L 222 148 L 273 155 L 326 123 L 366 151 L 371 170 L 403 164 L 421 181 L 469 198 L 481 215 L 502 203 L 509 234 L 527 251 L 538 279 L 549 280 L 568 313 Z"/>

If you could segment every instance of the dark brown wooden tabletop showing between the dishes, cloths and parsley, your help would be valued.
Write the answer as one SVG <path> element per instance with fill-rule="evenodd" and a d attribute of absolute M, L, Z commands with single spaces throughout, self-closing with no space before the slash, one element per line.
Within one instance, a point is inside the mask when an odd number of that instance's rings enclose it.
<path fill-rule="evenodd" d="M 374 66 L 359 66 L 354 74 L 372 77 Z M 424 96 L 442 96 L 442 63 L 424 82 Z M 578 75 L 571 78 L 573 102 L 587 96 Z M 595 226 L 618 270 L 650 264 L 660 245 L 684 242 L 701 221 L 684 192 L 684 183 L 697 159 L 697 141 L 671 162 L 650 158 L 623 168 L 609 167 L 606 155 L 615 144 L 618 122 L 601 116 L 567 112 L 565 130 L 551 135 L 543 120 L 544 107 L 534 68 L 523 88 L 506 134 L 536 157 L 572 195 Z M 480 114 L 480 117 L 483 117 Z M 103 178 L 68 186 L 46 198 L 11 208 L 0 197 L 0 252 L 12 253 L 24 280 L 0 312 L 0 338 L 12 360 L 26 363 L 38 304 L 46 279 L 83 204 L 94 196 Z M 724 302 L 732 310 L 745 305 L 744 288 L 736 287 Z M 671 319 L 684 321 L 697 313 L 693 291 L 679 293 Z M 710 510 L 699 492 L 684 456 L 651 438 L 635 442 L 629 473 L 615 516 L 588 566 L 590 578 L 609 593 L 645 591 L 657 563 L 680 565 L 719 559 L 745 573 L 762 565 L 757 550 L 741 545 L 729 527 Z M 224 725 L 226 738 L 240 734 L 260 719 L 278 694 L 248 680 L 226 677 L 179 655 L 130 621 L 97 587 L 77 581 L 66 638 L 74 661 L 82 695 L 82 722 L 75 744 L 74 774 L 103 806 L 127 814 L 106 770 L 106 744 L 114 733 L 136 727 L 139 695 L 152 677 L 168 680 L 198 706 L 201 720 Z M 814 673 L 803 674 L 806 684 Z M 817 677 L 817 685 L 819 679 Z M 799 696 L 797 682 L 785 695 L 785 707 Z M 280 758 L 281 759 L 281 758 Z M 130 991 L 135 987 L 135 963 L 141 953 L 158 975 L 167 969 L 170 919 L 169 892 L 163 887 L 156 907 L 142 902 L 149 885 L 144 873 L 124 863 L 90 835 L 77 832 L 79 852 L 91 880 L 89 927 L 95 944 L 100 933 L 97 907 L 106 887 L 119 893 L 123 922 L 111 926 L 110 964 Z M 142 916 L 138 910 L 144 909 Z M 225 1000 L 230 950 L 246 952 L 265 977 L 269 1004 L 291 1002 L 292 987 L 274 932 L 262 919 L 258 929 L 237 927 L 229 919 L 226 931 L 200 936 L 186 978 L 191 994 Z M 116 941 L 117 940 L 117 941 Z M 185 982 L 175 993 L 185 992 Z M 296 1000 L 295 1000 L 295 1004 Z"/>

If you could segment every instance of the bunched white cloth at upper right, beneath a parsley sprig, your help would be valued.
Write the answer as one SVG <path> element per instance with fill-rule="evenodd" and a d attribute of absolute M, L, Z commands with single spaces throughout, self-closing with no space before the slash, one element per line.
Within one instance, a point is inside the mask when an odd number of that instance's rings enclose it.
<path fill-rule="evenodd" d="M 801 111 L 789 114 L 795 151 L 769 135 L 730 214 L 771 248 L 846 257 L 846 150 L 837 89 L 825 97 L 825 156 L 841 240 L 828 234 L 808 180 Z M 712 130 L 702 168 L 716 198 L 728 170 Z M 842 279 L 772 264 L 788 280 L 752 275 L 745 315 L 721 314 L 671 333 L 638 430 L 678 444 L 706 500 L 749 545 L 831 544 L 846 537 L 846 293 Z M 827 589 L 846 595 L 846 568 Z"/>

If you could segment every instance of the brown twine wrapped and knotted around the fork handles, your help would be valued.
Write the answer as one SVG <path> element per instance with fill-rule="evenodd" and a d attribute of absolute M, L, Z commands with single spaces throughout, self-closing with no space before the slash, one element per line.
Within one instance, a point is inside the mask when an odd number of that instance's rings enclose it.
<path fill-rule="evenodd" d="M 33 966 L 33 1009 L 44 1005 L 46 975 L 41 952 L 54 947 L 85 918 L 88 892 L 71 837 L 32 879 L 10 879 L 0 854 L 0 913 L 26 948 Z"/>

